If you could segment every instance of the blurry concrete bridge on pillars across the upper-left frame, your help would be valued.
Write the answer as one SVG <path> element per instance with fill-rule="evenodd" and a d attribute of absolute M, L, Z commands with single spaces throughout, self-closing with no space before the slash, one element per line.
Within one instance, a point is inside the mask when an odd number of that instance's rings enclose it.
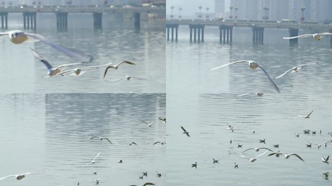
<path fill-rule="evenodd" d="M 56 15 L 57 28 L 67 28 L 68 13 L 92 13 L 93 24 L 95 28 L 101 28 L 102 14 L 124 14 L 131 13 L 134 18 L 135 28 L 140 27 L 140 14 L 150 13 L 164 16 L 166 12 L 165 7 L 161 6 L 146 6 L 146 7 L 0 7 L 1 28 L 8 28 L 8 14 L 22 13 L 24 29 L 36 29 L 36 14 L 37 13 L 54 13 Z M 165 17 L 165 16 L 164 16 Z"/>

